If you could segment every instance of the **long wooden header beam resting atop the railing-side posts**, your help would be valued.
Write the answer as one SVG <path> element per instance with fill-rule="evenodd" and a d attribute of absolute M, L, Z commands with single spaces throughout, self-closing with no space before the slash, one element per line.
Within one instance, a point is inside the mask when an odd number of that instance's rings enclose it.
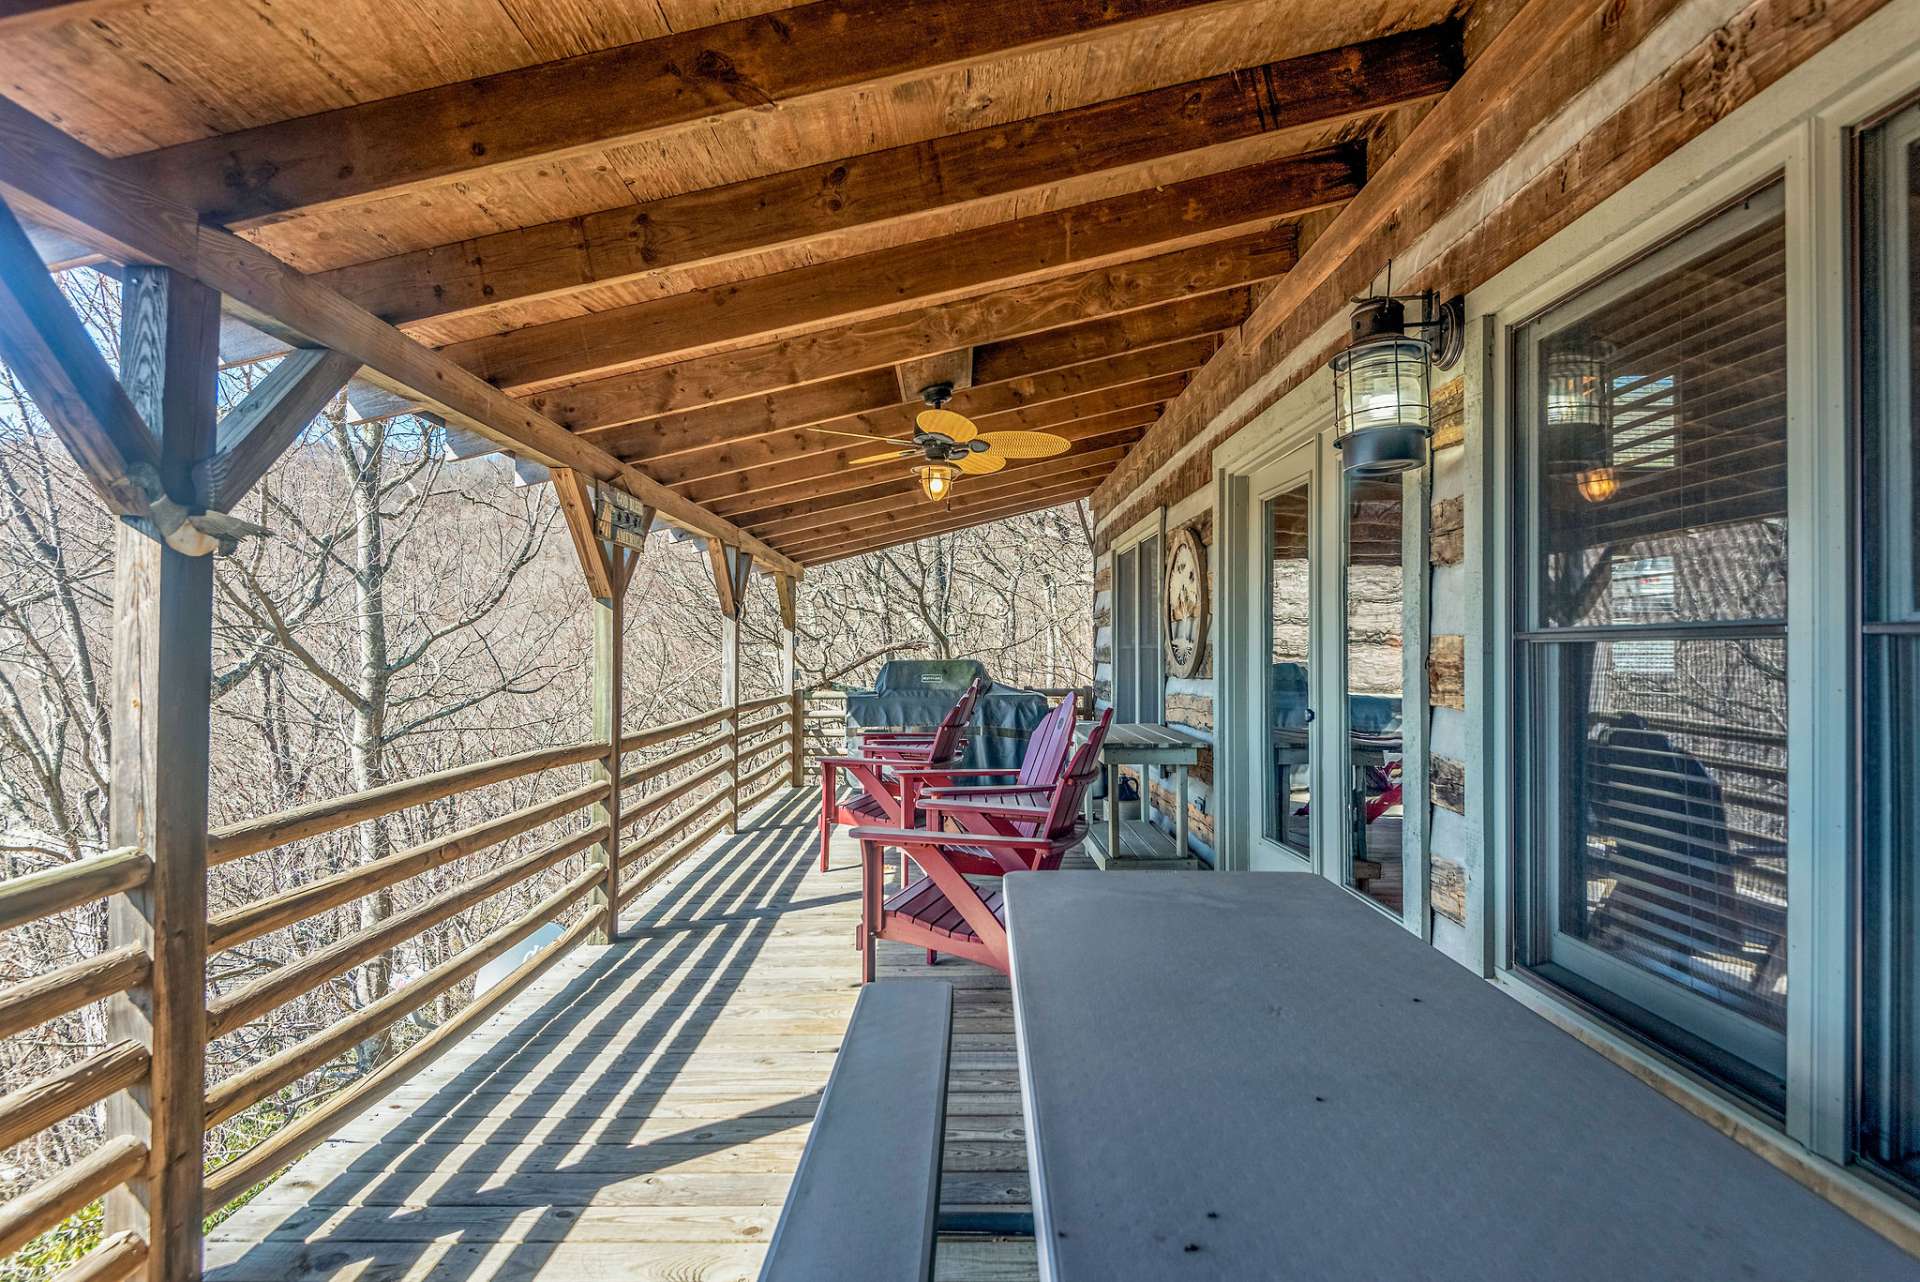
<path fill-rule="evenodd" d="M 123 173 L 104 155 L 0 98 L 0 186 L 23 202 L 31 217 L 123 263 L 171 267 L 200 280 L 223 294 L 228 311 L 255 328 L 294 347 L 328 347 L 353 357 L 371 382 L 417 397 L 445 420 L 480 432 L 520 457 L 589 472 L 685 530 L 739 545 L 778 570 L 799 570 L 732 522 L 582 441 L 259 246 L 217 226 L 202 226 L 190 209 L 129 184 Z"/>

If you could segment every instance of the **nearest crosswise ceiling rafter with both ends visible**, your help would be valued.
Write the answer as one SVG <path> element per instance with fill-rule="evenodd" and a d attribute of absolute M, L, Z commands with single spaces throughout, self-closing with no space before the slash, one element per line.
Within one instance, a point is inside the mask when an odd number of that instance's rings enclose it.
<path fill-rule="evenodd" d="M 1446 92 L 1455 25 L 1427 27 L 1010 125 L 357 263 L 321 280 L 394 324 L 551 297 L 925 217 Z M 918 392 L 910 388 L 908 393 Z"/>

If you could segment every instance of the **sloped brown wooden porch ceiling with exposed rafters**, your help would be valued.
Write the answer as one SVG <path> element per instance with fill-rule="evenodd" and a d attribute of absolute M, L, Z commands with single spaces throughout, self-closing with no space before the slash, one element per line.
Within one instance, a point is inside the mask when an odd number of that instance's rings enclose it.
<path fill-rule="evenodd" d="M 818 430 L 902 363 L 1071 441 L 950 510 L 1104 476 L 1461 61 L 1450 0 L 10 2 L 10 96 L 780 551 L 922 520 Z"/>

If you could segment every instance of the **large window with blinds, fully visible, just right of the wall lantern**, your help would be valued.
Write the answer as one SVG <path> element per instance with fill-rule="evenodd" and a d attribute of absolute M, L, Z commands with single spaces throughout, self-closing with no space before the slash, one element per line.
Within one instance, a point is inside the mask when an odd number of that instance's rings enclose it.
<path fill-rule="evenodd" d="M 1515 334 L 1515 962 L 1784 1107 L 1780 184 Z"/>

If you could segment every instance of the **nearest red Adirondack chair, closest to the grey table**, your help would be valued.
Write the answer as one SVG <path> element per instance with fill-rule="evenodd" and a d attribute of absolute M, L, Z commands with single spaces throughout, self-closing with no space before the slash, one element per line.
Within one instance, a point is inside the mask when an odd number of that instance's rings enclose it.
<path fill-rule="evenodd" d="M 1071 718 L 1071 706 L 1068 708 Z M 1002 873 L 1050 871 L 1085 835 L 1081 798 L 1100 773 L 1100 743 L 1112 708 L 1094 722 L 1087 743 L 1073 752 L 1060 781 L 1043 796 L 1021 793 L 1006 800 L 989 796 L 925 795 L 920 808 L 927 827 L 856 827 L 860 843 L 860 979 L 874 979 L 874 942 L 881 938 L 937 954 L 950 952 L 1006 973 L 1006 919 L 998 885 L 975 885 L 956 858 L 993 864 Z M 991 789 L 981 789 L 989 791 Z M 945 823 L 966 831 L 943 831 Z M 1016 831 L 1002 831 L 1002 829 Z M 924 869 L 924 877 L 885 894 L 887 848 L 899 846 Z"/>

